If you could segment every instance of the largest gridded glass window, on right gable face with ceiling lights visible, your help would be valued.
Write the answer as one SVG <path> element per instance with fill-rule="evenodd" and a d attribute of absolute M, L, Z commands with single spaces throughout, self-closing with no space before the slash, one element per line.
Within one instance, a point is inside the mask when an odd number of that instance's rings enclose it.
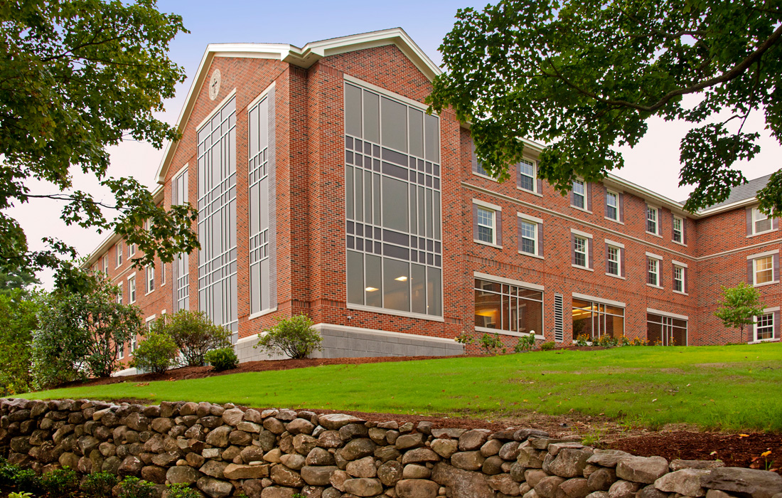
<path fill-rule="evenodd" d="M 345 85 L 347 301 L 442 316 L 439 118 Z"/>

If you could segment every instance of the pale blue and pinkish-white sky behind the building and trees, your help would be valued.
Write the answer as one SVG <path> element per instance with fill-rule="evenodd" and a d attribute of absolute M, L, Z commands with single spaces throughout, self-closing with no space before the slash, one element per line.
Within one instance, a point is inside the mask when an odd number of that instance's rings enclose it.
<path fill-rule="evenodd" d="M 162 12 L 178 13 L 184 19 L 190 34 L 180 34 L 171 44 L 170 58 L 185 67 L 187 81 L 177 88 L 177 96 L 166 103 L 161 116 L 170 124 L 176 121 L 184 103 L 195 70 L 210 43 L 258 42 L 289 43 L 303 46 L 325 38 L 402 27 L 436 64 L 442 63 L 437 48 L 453 27 L 457 9 L 472 6 L 481 8 L 485 2 L 444 2 L 442 0 L 398 0 L 396 2 L 249 2 L 223 0 L 202 2 L 186 0 L 159 0 Z M 738 166 L 748 179 L 768 175 L 780 168 L 782 146 L 770 138 L 764 129 L 762 116 L 756 114 L 744 131 L 762 135 L 762 152 L 754 160 Z M 633 150 L 623 148 L 626 167 L 616 175 L 661 193 L 673 200 L 684 200 L 689 189 L 678 187 L 679 143 L 689 124 L 652 119 L 644 140 Z M 126 142 L 111 150 L 109 175 L 133 176 L 146 186 L 154 187 L 154 176 L 163 157 L 162 150 L 149 144 Z M 74 186 L 90 192 L 99 192 L 98 181 L 74 172 Z M 53 193 L 45 184 L 31 185 L 32 193 Z M 103 199 L 111 202 L 107 192 Z M 80 255 L 88 255 L 106 237 L 106 233 L 66 226 L 59 219 L 62 204 L 48 200 L 33 200 L 30 204 L 14 207 L 9 214 L 22 223 L 32 249 L 40 249 L 41 237 L 54 236 L 77 248 Z M 40 275 L 50 287 L 50 274 Z"/>

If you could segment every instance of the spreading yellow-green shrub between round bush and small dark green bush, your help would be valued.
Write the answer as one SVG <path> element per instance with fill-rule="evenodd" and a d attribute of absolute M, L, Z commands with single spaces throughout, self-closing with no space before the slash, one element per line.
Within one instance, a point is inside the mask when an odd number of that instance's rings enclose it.
<path fill-rule="evenodd" d="M 212 323 L 204 312 L 182 309 L 163 315 L 152 330 L 174 339 L 184 366 L 204 366 L 206 352 L 231 346 L 231 331 Z"/>

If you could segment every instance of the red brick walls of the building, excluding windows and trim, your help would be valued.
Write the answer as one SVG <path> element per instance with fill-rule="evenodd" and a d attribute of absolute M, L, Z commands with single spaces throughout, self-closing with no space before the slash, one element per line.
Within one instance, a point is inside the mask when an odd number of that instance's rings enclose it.
<path fill-rule="evenodd" d="M 719 286 L 734 286 L 748 278 L 747 256 L 778 250 L 777 230 L 759 236 L 746 234 L 746 203 L 714 215 L 687 216 L 672 201 L 609 178 L 587 190 L 591 210 L 571 206 L 543 182 L 542 192 L 519 189 L 515 167 L 511 180 L 498 183 L 472 171 L 468 128 L 451 112 L 440 117 L 440 155 L 443 222 L 443 316 L 421 319 L 394 312 L 350 309 L 346 304 L 345 248 L 345 139 L 343 92 L 346 76 L 423 105 L 431 89 L 429 78 L 403 51 L 399 43 L 378 44 L 323 56 L 309 67 L 279 58 L 244 57 L 219 53 L 203 67 L 207 75 L 195 88 L 189 103 L 192 111 L 181 123 L 183 138 L 164 165 L 162 202 L 171 203 L 174 175 L 188 167 L 191 204 L 198 192 L 196 135 L 199 123 L 219 108 L 231 92 L 236 99 L 237 150 L 237 248 L 239 337 L 259 333 L 278 316 L 306 312 L 314 323 L 386 330 L 428 337 L 454 338 L 475 333 L 474 279 L 479 272 L 504 279 L 542 286 L 543 330 L 546 341 L 554 340 L 554 294 L 563 298 L 563 336 L 572 339 L 570 318 L 573 293 L 598 300 L 619 301 L 625 308 L 625 334 L 645 338 L 647 309 L 688 317 L 688 344 L 706 345 L 746 342 L 737 330 L 727 330 L 713 316 Z M 210 99 L 208 75 L 221 71 L 220 92 Z M 203 78 L 202 78 L 203 80 Z M 272 312 L 250 319 L 248 253 L 248 105 L 274 84 L 276 114 L 276 273 L 277 306 Z M 539 149 L 529 147 L 534 160 Z M 622 193 L 623 222 L 604 214 L 605 188 Z M 502 247 L 473 240 L 474 200 L 501 207 Z M 647 233 L 647 203 L 659 208 L 659 236 Z M 673 210 L 673 211 L 672 211 Z M 543 257 L 519 251 L 517 214 L 543 220 Z M 685 244 L 673 242 L 672 220 L 684 219 Z M 195 226 L 194 226 L 195 228 Z M 572 229 L 592 238 L 590 270 L 572 265 Z M 624 246 L 624 277 L 606 272 L 605 240 Z M 160 316 L 174 309 L 174 279 L 171 265 L 156 271 L 156 289 L 145 293 L 145 275 L 127 262 L 116 268 L 116 245 L 103 244 L 90 259 L 101 262 L 109 255 L 109 277 L 124 283 L 135 272 L 137 298 L 145 316 Z M 662 257 L 662 288 L 647 285 L 647 253 Z M 687 294 L 673 291 L 673 262 L 687 265 Z M 778 261 L 778 254 L 777 254 Z M 99 263 L 100 264 L 100 263 Z M 198 253 L 191 254 L 190 308 L 198 307 Z M 778 271 L 778 269 L 777 269 Z M 774 280 L 779 280 L 774 275 Z M 770 308 L 779 305 L 780 284 L 759 287 Z M 777 313 L 778 315 L 778 313 Z M 779 337 L 776 323 L 775 337 Z M 537 331 L 540 334 L 540 331 Z M 746 334 L 745 334 L 746 335 Z M 516 337 L 503 335 L 507 345 Z M 127 354 L 126 354 L 127 357 Z"/>

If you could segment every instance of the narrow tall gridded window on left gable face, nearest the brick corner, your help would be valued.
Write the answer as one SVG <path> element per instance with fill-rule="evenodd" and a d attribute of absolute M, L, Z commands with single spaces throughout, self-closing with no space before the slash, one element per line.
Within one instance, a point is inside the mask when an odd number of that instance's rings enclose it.
<path fill-rule="evenodd" d="M 274 90 L 248 113 L 250 313 L 277 305 L 274 273 Z"/>

